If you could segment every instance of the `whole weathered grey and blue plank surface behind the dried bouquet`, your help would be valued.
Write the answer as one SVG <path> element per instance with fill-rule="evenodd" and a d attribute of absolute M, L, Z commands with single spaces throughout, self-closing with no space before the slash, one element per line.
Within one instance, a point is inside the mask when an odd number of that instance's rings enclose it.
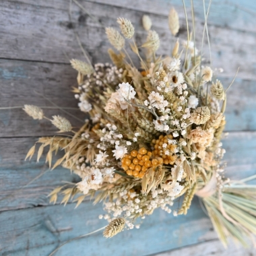
<path fill-rule="evenodd" d="M 117 26 L 119 16 L 131 19 L 136 39 L 146 36 L 143 13 L 150 15 L 161 37 L 159 53 L 170 53 L 174 41 L 167 15 L 174 6 L 181 17 L 179 38 L 185 38 L 185 15 L 181 0 L 77 0 L 104 26 Z M 191 13 L 191 1 L 185 1 Z M 206 3 L 208 1 L 205 1 Z M 236 69 L 238 77 L 228 93 L 225 159 L 230 177 L 256 173 L 256 3 L 255 0 L 213 0 L 209 33 L 214 67 L 222 67 L 228 86 Z M 201 45 L 203 5 L 194 0 L 197 42 Z M 76 73 L 69 59 L 82 58 L 74 32 L 79 34 L 93 63 L 109 61 L 104 28 L 73 3 L 71 20 L 68 0 L 2 0 L 0 3 L 0 106 L 36 104 L 76 107 L 70 92 Z M 191 15 L 189 14 L 189 17 Z M 190 18 L 189 18 L 190 20 Z M 190 20 L 191 21 L 191 20 Z M 199 43 L 200 42 L 200 43 Z M 205 57 L 207 44 L 205 44 Z M 79 110 L 69 113 L 84 119 Z M 47 116 L 61 113 L 45 110 Z M 63 115 L 61 113 L 61 115 Z M 67 116 L 68 117 L 68 116 Z M 73 126 L 79 121 L 68 117 Z M 69 170 L 59 168 L 44 174 L 44 161 L 24 162 L 38 137 L 54 135 L 46 121 L 34 121 L 21 109 L 0 110 L 0 254 L 49 255 L 60 243 L 104 226 L 98 220 L 102 205 L 85 201 L 77 209 L 68 203 L 49 204 L 46 195 L 62 181 L 75 181 Z M 40 178 L 33 181 L 36 177 Z M 166 253 L 163 253 L 167 251 Z M 253 249 L 231 246 L 224 251 L 198 199 L 187 216 L 174 218 L 161 210 L 147 217 L 139 230 L 122 232 L 111 240 L 101 233 L 65 245 L 56 255 L 256 255 Z"/>

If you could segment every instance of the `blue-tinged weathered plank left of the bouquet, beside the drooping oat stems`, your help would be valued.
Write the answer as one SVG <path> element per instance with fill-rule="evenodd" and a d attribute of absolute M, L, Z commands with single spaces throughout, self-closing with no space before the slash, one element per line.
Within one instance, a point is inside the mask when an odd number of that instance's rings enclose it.
<path fill-rule="evenodd" d="M 24 162 L 36 138 L 0 139 L 0 212 L 38 205 L 49 205 L 49 193 L 65 181 L 77 183 L 79 177 L 65 168 L 49 170 L 47 151 L 36 163 L 36 156 Z M 55 160 L 61 154 L 55 156 Z M 30 184 L 29 184 L 30 183 Z M 29 185 L 28 185 L 29 184 Z M 58 203 L 60 203 L 58 199 Z"/>

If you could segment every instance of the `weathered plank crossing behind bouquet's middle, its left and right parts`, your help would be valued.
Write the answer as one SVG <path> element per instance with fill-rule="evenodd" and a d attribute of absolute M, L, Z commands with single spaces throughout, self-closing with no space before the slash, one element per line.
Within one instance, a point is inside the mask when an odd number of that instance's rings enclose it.
<path fill-rule="evenodd" d="M 0 108 L 6 106 L 53 106 L 44 97 L 58 106 L 77 108 L 71 92 L 76 85 L 76 72 L 70 65 L 38 63 L 32 61 L 0 60 Z M 231 78 L 222 78 L 224 86 L 228 86 Z M 36 94 L 42 94 L 42 96 Z M 228 91 L 226 108 L 226 131 L 255 130 L 256 88 L 252 81 L 236 79 Z M 67 110 L 71 115 L 84 120 L 86 115 L 78 110 Z M 63 115 L 74 127 L 82 125 L 81 121 L 70 117 L 59 109 L 45 109 L 46 117 Z M 28 117 L 22 109 L 0 109 L 0 137 L 30 137 L 54 135 L 57 129 L 49 121 L 35 121 Z"/>

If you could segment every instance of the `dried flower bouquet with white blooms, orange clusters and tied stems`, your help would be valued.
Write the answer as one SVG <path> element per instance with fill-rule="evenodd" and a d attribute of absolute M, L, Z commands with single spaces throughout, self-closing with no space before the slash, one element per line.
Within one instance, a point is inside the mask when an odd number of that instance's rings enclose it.
<path fill-rule="evenodd" d="M 142 45 L 125 18 L 117 19 L 121 33 L 106 28 L 116 50 L 108 50 L 113 64 L 71 60 L 78 72 L 73 92 L 88 119 L 78 131 L 64 117 L 49 119 L 67 135 L 40 138 L 37 159 L 49 147 L 46 162 L 51 167 L 53 153 L 61 151 L 53 168 L 62 165 L 82 180 L 57 187 L 50 201 L 55 203 L 59 194 L 62 203 L 73 199 L 77 206 L 86 197 L 103 201 L 106 214 L 99 218 L 109 222 L 103 234 L 110 238 L 125 227 L 139 228 L 136 220 L 158 207 L 174 216 L 187 214 L 197 195 L 224 245 L 228 236 L 246 245 L 245 236 L 256 234 L 255 187 L 223 176 L 226 91 L 216 79 L 220 70 L 203 65 L 193 32 L 182 43 L 177 40 L 170 56 L 156 55 L 160 38 L 147 15 L 142 22 L 148 31 Z M 168 22 L 175 36 L 179 17 L 174 9 Z M 37 106 L 25 105 L 24 110 L 34 119 L 46 118 Z M 181 207 L 172 209 L 178 198 Z"/>

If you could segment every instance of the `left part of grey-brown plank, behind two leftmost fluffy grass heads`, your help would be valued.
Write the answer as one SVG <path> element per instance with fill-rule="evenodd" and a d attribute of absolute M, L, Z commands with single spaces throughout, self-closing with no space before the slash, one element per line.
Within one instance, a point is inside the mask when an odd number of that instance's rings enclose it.
<path fill-rule="evenodd" d="M 24 104 L 55 107 L 44 98 L 46 97 L 58 106 L 78 109 L 77 100 L 71 92 L 71 87 L 77 86 L 76 71 L 70 65 L 1 59 L 0 81 L 0 107 Z M 79 110 L 66 111 L 82 121 L 86 117 L 85 113 Z M 56 114 L 67 117 L 74 127 L 83 123 L 59 109 L 45 109 L 44 113 L 49 118 Z M 35 121 L 21 108 L 0 109 L 0 137 L 54 135 L 56 131 L 51 122 L 45 119 Z"/>

